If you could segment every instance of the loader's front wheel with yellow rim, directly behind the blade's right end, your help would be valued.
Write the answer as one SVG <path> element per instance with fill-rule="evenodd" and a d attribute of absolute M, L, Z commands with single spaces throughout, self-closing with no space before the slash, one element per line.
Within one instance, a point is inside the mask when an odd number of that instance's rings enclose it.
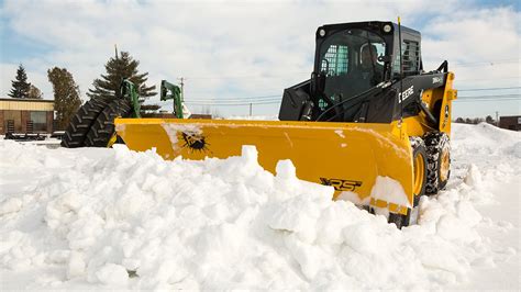
<path fill-rule="evenodd" d="M 422 138 L 420 137 L 410 137 L 411 147 L 412 147 L 412 161 L 414 162 L 414 168 L 417 167 L 415 161 L 417 158 L 421 159 L 423 171 L 422 177 L 419 180 L 419 189 L 414 190 L 414 200 L 413 206 L 417 207 L 420 203 L 420 198 L 425 194 L 425 187 L 426 187 L 426 173 L 428 173 L 428 154 L 426 147 Z M 415 171 L 414 171 L 415 173 Z M 396 226 L 401 229 L 403 226 L 409 226 L 411 223 L 415 223 L 418 221 L 418 212 L 413 212 L 413 209 L 408 209 L 406 215 L 401 214 L 389 214 L 389 223 L 395 223 Z"/>

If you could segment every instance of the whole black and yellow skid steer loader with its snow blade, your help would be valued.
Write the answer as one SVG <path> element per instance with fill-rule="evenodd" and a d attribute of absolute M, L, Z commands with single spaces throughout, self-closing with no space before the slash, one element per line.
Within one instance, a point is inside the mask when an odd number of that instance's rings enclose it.
<path fill-rule="evenodd" d="M 420 196 L 448 180 L 454 74 L 447 61 L 425 72 L 420 33 L 399 23 L 323 25 L 315 41 L 311 78 L 284 91 L 280 121 L 117 119 L 118 136 L 165 159 L 254 145 L 270 172 L 290 159 L 298 178 L 332 186 L 334 199 L 398 227 L 413 223 Z"/>

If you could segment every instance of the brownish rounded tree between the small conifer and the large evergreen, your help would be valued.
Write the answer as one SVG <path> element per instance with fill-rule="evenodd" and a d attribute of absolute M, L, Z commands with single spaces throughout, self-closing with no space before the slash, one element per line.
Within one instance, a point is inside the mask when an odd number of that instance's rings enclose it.
<path fill-rule="evenodd" d="M 65 68 L 54 67 L 47 70 L 48 81 L 54 89 L 54 109 L 58 130 L 65 130 L 70 119 L 81 105 L 79 88 L 73 75 Z"/>

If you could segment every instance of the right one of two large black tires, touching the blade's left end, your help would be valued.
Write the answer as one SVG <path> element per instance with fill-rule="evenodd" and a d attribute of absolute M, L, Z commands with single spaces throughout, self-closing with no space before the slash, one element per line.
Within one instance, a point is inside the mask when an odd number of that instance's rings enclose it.
<path fill-rule="evenodd" d="M 132 114 L 130 101 L 117 99 L 112 101 L 100 113 L 93 125 L 90 127 L 85 146 L 87 147 L 109 147 L 109 142 L 114 135 L 114 119 L 129 117 Z"/>

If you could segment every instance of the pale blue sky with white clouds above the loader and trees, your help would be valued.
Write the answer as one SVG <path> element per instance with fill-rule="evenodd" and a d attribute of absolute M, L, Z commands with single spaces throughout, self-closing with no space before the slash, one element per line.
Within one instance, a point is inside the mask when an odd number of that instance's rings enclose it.
<path fill-rule="evenodd" d="M 195 113 L 247 115 L 250 105 L 224 104 L 269 100 L 254 104 L 252 113 L 277 115 L 284 89 L 309 79 L 318 26 L 398 15 L 422 33 L 425 70 L 448 60 L 461 97 L 454 117 L 521 114 L 521 18 L 519 1 L 510 0 L 4 0 L 0 98 L 23 64 L 45 99 L 53 99 L 46 71 L 55 66 L 73 74 L 87 99 L 117 44 L 140 60 L 147 85 L 182 77 L 187 102 L 221 104 L 189 105 Z M 496 98 L 464 100 L 472 96 Z M 160 103 L 158 97 L 148 102 Z"/>

